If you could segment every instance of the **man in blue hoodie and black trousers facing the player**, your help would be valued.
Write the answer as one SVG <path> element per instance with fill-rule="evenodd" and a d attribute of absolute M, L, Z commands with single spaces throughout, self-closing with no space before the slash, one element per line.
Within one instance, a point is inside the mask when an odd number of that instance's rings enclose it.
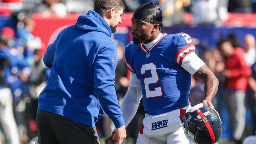
<path fill-rule="evenodd" d="M 121 0 L 96 0 L 48 46 L 45 66 L 52 68 L 38 98 L 39 144 L 98 144 L 96 121 L 104 111 L 116 127 L 119 144 L 126 137 L 115 92 L 117 50 L 110 40 L 120 24 Z"/>

